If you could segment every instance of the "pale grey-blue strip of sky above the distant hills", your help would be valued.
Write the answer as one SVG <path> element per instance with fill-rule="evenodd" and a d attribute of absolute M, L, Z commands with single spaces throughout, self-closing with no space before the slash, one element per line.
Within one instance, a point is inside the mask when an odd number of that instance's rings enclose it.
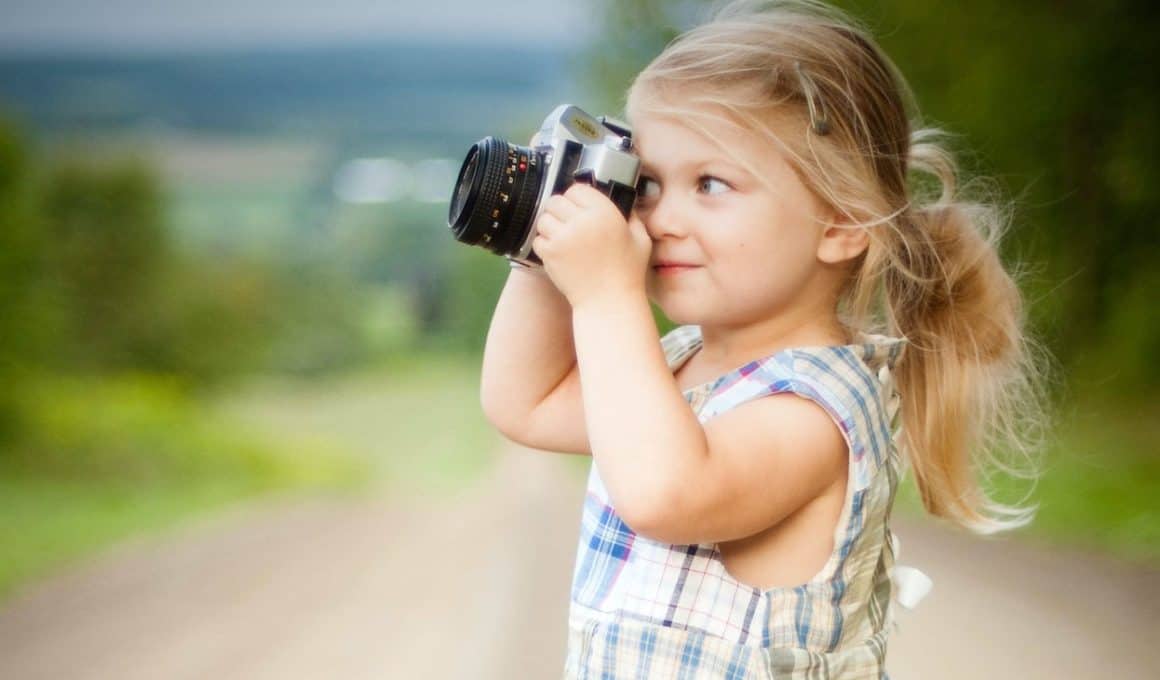
<path fill-rule="evenodd" d="M 0 51 L 380 39 L 579 44 L 594 0 L 0 0 Z"/>

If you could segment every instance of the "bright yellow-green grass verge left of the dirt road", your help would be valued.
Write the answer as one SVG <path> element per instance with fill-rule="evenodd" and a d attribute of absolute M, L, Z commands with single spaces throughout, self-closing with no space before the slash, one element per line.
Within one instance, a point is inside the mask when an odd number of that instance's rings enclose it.
<path fill-rule="evenodd" d="M 358 461 L 259 435 L 150 377 L 52 381 L 0 456 L 0 599 L 119 538 L 264 493 L 353 489 Z"/>

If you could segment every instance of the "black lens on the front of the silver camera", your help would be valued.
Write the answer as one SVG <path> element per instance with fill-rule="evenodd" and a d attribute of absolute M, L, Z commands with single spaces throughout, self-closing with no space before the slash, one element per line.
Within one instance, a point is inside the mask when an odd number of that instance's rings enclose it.
<path fill-rule="evenodd" d="M 543 157 L 485 137 L 467 151 L 455 182 L 448 225 L 456 240 L 500 255 L 520 251 L 543 185 Z"/>

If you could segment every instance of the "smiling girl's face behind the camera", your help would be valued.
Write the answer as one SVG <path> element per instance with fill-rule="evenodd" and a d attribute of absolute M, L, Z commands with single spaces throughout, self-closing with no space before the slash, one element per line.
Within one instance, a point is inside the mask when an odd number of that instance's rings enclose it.
<path fill-rule="evenodd" d="M 635 215 L 653 240 L 650 297 L 679 324 L 722 326 L 818 305 L 828 290 L 818 260 L 828 211 L 771 142 L 723 122 L 704 126 L 728 153 L 674 118 L 633 121 L 643 161 Z"/>

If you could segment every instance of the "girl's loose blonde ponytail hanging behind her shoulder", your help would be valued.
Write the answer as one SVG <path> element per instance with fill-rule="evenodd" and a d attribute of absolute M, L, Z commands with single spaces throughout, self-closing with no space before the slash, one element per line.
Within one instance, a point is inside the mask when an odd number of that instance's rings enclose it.
<path fill-rule="evenodd" d="M 992 533 L 1034 513 L 991 498 L 979 476 L 996 464 L 1034 476 L 1025 463 L 1042 420 L 1039 374 L 1018 287 L 999 255 L 1008 216 L 998 203 L 959 195 L 955 160 L 935 135 L 912 136 L 907 164 L 935 180 L 938 195 L 912 198 L 918 204 L 899 215 L 873 259 L 890 330 L 908 340 L 896 368 L 900 444 L 922 502 Z M 1000 450 L 1024 464 L 1003 464 Z"/>

